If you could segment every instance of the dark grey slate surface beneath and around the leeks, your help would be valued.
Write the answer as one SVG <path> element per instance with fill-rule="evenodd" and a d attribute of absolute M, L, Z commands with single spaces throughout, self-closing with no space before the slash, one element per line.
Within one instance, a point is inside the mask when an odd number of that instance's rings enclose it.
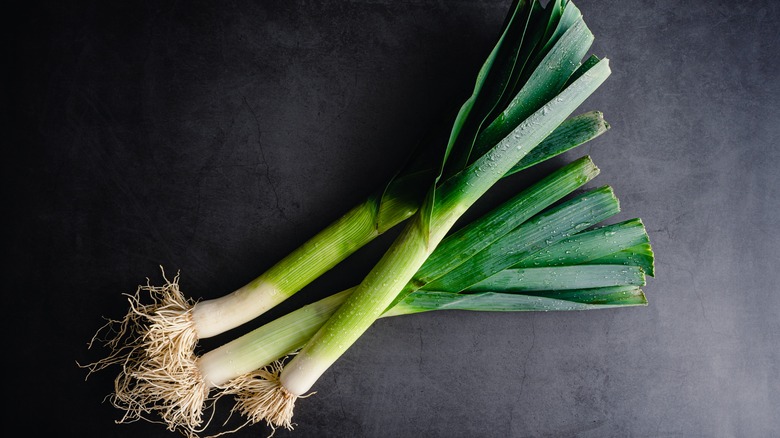
<path fill-rule="evenodd" d="M 773 1 L 578 3 L 613 75 L 590 154 L 657 255 L 650 305 L 376 323 L 278 437 L 780 434 L 780 61 Z M 159 265 L 213 298 L 386 179 L 461 101 L 484 2 L 25 2 L 3 69 L 6 399 L 32 435 L 116 425 L 86 342 Z M 267 318 L 360 280 L 393 233 Z M 259 320 L 253 324 L 259 324 Z M 210 348 L 238 334 L 209 340 Z M 216 421 L 225 417 L 222 412 Z M 265 436 L 255 426 L 236 436 Z"/>

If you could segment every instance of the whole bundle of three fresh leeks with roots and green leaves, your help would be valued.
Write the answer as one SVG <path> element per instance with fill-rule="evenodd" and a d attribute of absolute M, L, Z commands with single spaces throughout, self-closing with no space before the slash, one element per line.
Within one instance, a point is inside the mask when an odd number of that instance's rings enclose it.
<path fill-rule="evenodd" d="M 296 399 L 380 317 L 646 304 L 641 286 L 653 256 L 641 221 L 592 229 L 619 211 L 611 188 L 553 205 L 598 173 L 588 158 L 451 233 L 503 177 L 607 130 L 601 113 L 570 117 L 610 74 L 607 59 L 583 60 L 592 42 L 570 1 L 516 1 L 445 144 L 425 145 L 365 202 L 224 297 L 195 303 L 178 276 L 130 295 L 125 318 L 107 325 L 111 354 L 87 366 L 121 365 L 112 402 L 122 421 L 155 413 L 170 430 L 194 435 L 216 392 L 236 395 L 251 423 L 292 428 Z M 199 339 L 259 316 L 402 222 L 359 285 L 195 354 Z"/>

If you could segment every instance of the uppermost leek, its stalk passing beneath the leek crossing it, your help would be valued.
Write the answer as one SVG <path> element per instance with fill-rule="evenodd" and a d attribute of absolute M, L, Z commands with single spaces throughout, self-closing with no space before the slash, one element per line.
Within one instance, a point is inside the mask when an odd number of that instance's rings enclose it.
<path fill-rule="evenodd" d="M 263 274 L 225 296 L 196 302 L 174 284 L 148 287 L 148 300 L 139 294 L 129 295 L 127 314 L 107 325 L 120 327 L 113 334 L 114 338 L 107 341 L 112 353 L 90 365 L 90 369 L 122 364 L 140 380 L 170 375 L 187 379 L 189 372 L 194 370 L 198 340 L 224 333 L 260 316 L 377 236 L 412 217 L 421 206 L 424 206 L 419 215 L 424 218 L 421 225 L 426 230 L 431 228 L 430 223 L 436 216 L 433 213 L 441 213 L 441 204 L 450 202 L 441 198 L 444 192 L 459 190 L 457 184 L 469 185 L 483 180 L 478 174 L 485 169 L 498 170 L 491 167 L 491 159 L 475 167 L 469 178 L 452 179 L 449 188 L 438 187 L 435 192 L 431 191 L 434 181 L 442 185 L 455 173 L 474 164 L 475 157 L 484 155 L 521 122 L 527 122 L 532 113 L 554 98 L 564 86 L 571 91 L 561 94 L 560 98 L 570 99 L 571 95 L 576 99 L 575 95 L 586 95 L 585 89 L 595 86 L 608 73 L 606 60 L 597 62 L 592 58 L 580 65 L 592 35 L 573 5 L 553 3 L 547 9 L 537 2 L 520 2 L 512 7 L 499 44 L 480 72 L 473 96 L 461 108 L 446 147 L 436 143 L 423 144 L 390 181 L 366 200 Z M 584 78 L 575 84 L 579 76 Z M 574 101 L 552 102 L 545 106 L 545 111 L 563 114 L 571 112 L 573 105 Z M 558 107 L 568 109 L 561 112 Z M 507 165 L 503 166 L 500 175 L 494 176 L 509 175 L 556 156 L 606 129 L 603 119 L 596 113 L 561 124 L 563 119 L 565 117 L 549 118 L 550 123 L 535 129 L 532 143 L 547 138 L 544 147 L 535 152 L 528 143 L 523 153 L 502 158 Z M 502 147 L 509 145 L 504 143 Z M 491 152 L 496 153 L 497 150 Z M 520 161 L 524 153 L 528 155 Z M 437 225 L 437 228 L 440 227 Z M 430 245 L 430 248 L 434 246 Z M 190 420 L 198 422 L 199 418 Z"/>

